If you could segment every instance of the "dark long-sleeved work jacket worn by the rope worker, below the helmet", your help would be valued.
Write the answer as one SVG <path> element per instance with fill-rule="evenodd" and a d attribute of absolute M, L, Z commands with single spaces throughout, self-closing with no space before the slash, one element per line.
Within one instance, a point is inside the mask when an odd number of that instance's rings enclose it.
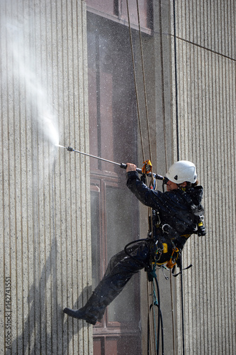
<path fill-rule="evenodd" d="M 197 233 L 199 215 L 203 214 L 201 206 L 203 187 L 161 192 L 147 187 L 135 171 L 128 172 L 127 178 L 130 191 L 142 204 L 153 209 L 154 238 L 164 236 L 182 249 L 186 239 L 191 234 Z"/>

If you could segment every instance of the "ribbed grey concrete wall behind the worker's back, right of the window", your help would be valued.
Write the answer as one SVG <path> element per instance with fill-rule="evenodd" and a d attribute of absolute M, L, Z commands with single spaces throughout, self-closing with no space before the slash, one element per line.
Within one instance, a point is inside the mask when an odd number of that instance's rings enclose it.
<path fill-rule="evenodd" d="M 178 91 L 177 120 L 174 119 L 178 131 L 174 135 L 177 137 L 179 132 L 179 158 L 196 163 L 205 189 L 207 228 L 206 237 L 191 237 L 184 249 L 184 266 L 193 263 L 184 272 L 185 349 L 186 354 L 233 354 L 235 4 L 227 0 L 174 4 L 173 75 L 177 77 Z M 174 36 L 174 18 L 172 29 Z M 172 44 L 174 52 L 174 39 Z M 174 155 L 176 159 L 175 152 Z M 179 288 L 177 293 L 180 302 Z M 180 324 L 179 312 L 179 354 Z"/>

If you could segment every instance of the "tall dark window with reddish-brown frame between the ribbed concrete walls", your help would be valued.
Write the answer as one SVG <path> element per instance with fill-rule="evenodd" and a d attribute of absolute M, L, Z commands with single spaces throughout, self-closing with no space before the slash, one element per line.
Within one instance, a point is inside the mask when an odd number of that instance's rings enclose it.
<path fill-rule="evenodd" d="M 118 163 L 136 161 L 137 114 L 127 26 L 88 13 L 90 153 Z M 111 256 L 138 239 L 137 200 L 118 165 L 91 158 L 93 288 Z M 94 327 L 94 355 L 140 354 L 139 275 Z M 112 350 L 111 350 L 112 349 Z"/>

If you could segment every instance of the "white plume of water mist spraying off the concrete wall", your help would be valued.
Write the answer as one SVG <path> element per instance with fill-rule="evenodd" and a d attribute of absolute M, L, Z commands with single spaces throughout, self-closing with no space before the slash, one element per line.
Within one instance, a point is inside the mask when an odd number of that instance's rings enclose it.
<path fill-rule="evenodd" d="M 42 58 L 37 58 L 35 46 L 30 46 L 30 29 L 28 22 L 11 23 L 6 21 L 7 52 L 6 58 L 12 58 L 12 67 L 6 64 L 6 75 L 12 76 L 14 82 L 19 82 L 19 87 L 24 88 L 21 97 L 24 95 L 26 106 L 30 109 L 32 137 L 37 138 L 33 142 L 35 148 L 49 143 L 51 156 L 44 158 L 50 163 L 55 159 L 57 146 L 59 144 L 59 130 L 57 126 L 57 116 L 52 109 L 48 88 L 43 87 L 43 80 L 48 81 L 45 76 L 45 68 L 42 65 Z M 33 43 L 33 40 L 31 40 Z M 50 68 L 47 65 L 47 72 Z"/>

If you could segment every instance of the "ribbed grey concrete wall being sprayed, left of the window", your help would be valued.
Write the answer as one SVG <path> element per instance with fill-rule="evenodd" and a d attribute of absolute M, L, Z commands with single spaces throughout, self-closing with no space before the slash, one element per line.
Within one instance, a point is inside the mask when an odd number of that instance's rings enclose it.
<path fill-rule="evenodd" d="M 62 312 L 91 293 L 89 161 L 55 147 L 89 151 L 86 5 L 3 0 L 0 16 L 1 354 L 92 354 L 91 326 Z"/>

